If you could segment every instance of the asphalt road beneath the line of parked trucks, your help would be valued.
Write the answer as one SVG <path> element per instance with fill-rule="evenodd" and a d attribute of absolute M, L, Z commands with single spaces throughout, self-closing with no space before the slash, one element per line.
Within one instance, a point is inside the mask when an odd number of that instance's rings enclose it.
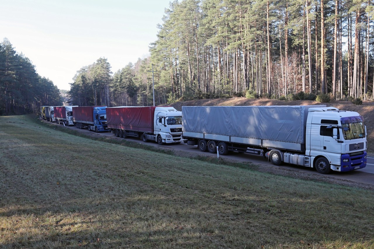
<path fill-rule="evenodd" d="M 45 121 L 46 122 L 46 121 Z M 56 123 L 53 123 L 57 125 Z M 66 126 L 67 127 L 67 126 Z M 75 129 L 80 132 L 84 133 L 91 133 L 91 134 L 96 134 L 98 136 L 113 136 L 113 138 L 116 138 L 114 133 L 111 132 L 100 132 L 100 133 L 95 133 L 88 131 L 87 129 L 78 129 L 75 126 L 69 126 L 69 129 Z M 129 141 L 134 141 L 134 142 L 139 142 L 140 144 L 147 144 L 147 145 L 152 145 L 155 147 L 161 147 L 161 148 L 169 148 L 169 149 L 174 149 L 178 151 L 186 151 L 188 153 L 195 153 L 195 154 L 201 154 L 205 156 L 217 156 L 216 154 L 210 154 L 209 152 L 202 152 L 197 148 L 197 146 L 191 146 L 187 144 L 170 144 L 170 145 L 159 145 L 156 142 L 148 141 L 148 142 L 143 142 L 141 139 L 138 138 L 126 138 Z M 308 174 L 316 174 L 321 176 L 320 173 L 316 172 L 315 169 L 310 169 L 308 167 L 302 167 L 302 166 L 296 166 L 296 165 L 287 165 L 287 164 L 282 164 L 280 166 L 275 166 L 272 163 L 268 162 L 268 159 L 264 159 L 262 156 L 256 156 L 252 154 L 246 154 L 246 153 L 230 153 L 229 155 L 222 156 L 220 157 L 223 158 L 231 158 L 234 160 L 238 161 L 243 161 L 243 162 L 251 162 L 256 165 L 261 165 L 264 167 L 279 167 L 279 168 L 285 168 L 285 169 L 292 169 L 292 170 L 298 170 L 300 172 L 308 173 Z M 336 179 L 341 179 L 341 180 L 347 180 L 347 181 L 353 181 L 353 182 L 358 182 L 362 184 L 368 184 L 368 185 L 374 185 L 374 157 L 368 157 L 367 158 L 367 166 L 364 169 L 358 169 L 358 170 L 352 170 L 349 172 L 331 172 L 328 175 L 324 175 L 325 177 L 328 178 L 336 178 Z"/>

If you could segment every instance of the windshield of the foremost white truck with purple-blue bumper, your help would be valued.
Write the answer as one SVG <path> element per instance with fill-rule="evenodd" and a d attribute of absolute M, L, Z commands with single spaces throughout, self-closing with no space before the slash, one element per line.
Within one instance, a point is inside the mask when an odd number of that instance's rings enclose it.
<path fill-rule="evenodd" d="M 362 116 L 341 118 L 341 127 L 343 127 L 345 140 L 365 137 L 364 118 Z M 348 130 L 344 130 L 345 127 L 347 127 Z"/>

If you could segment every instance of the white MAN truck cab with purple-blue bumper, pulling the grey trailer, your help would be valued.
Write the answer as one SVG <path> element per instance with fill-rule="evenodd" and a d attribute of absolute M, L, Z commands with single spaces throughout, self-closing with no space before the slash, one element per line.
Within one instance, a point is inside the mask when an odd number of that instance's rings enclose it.
<path fill-rule="evenodd" d="M 364 119 L 355 111 L 334 107 L 309 108 L 305 153 L 270 150 L 269 160 L 315 167 L 320 173 L 361 169 L 367 163 L 367 132 Z"/>

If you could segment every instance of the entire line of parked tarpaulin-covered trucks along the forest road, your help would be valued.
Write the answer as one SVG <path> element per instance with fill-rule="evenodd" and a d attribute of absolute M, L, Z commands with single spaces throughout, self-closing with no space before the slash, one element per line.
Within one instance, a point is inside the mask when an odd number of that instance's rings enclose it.
<path fill-rule="evenodd" d="M 49 111 L 49 114 L 47 112 Z M 41 108 L 43 119 L 158 144 L 184 142 L 200 151 L 257 154 L 274 165 L 346 172 L 367 164 L 363 117 L 326 105 Z"/>

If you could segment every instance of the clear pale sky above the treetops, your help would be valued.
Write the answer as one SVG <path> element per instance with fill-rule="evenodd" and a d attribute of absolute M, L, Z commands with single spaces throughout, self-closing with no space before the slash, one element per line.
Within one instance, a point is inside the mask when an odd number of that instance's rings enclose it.
<path fill-rule="evenodd" d="M 105 57 L 111 71 L 149 55 L 170 0 L 0 0 L 0 39 L 24 53 L 59 89 Z"/>

